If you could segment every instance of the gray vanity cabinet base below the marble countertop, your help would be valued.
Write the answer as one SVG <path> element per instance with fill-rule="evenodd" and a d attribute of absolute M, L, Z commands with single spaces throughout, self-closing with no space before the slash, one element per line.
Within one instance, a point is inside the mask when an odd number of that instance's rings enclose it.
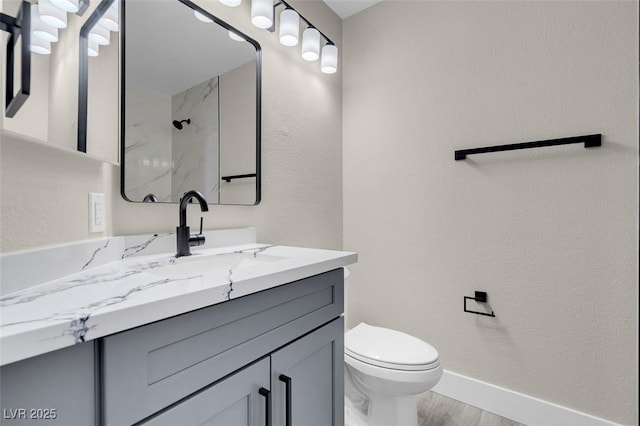
<path fill-rule="evenodd" d="M 2 424 L 343 426 L 343 285 L 339 268 L 5 365 Z"/>

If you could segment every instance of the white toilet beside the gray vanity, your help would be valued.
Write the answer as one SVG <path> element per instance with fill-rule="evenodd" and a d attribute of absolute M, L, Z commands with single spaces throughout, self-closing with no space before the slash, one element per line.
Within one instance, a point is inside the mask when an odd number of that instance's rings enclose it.
<path fill-rule="evenodd" d="M 348 277 L 345 268 L 345 324 Z M 366 323 L 346 330 L 344 361 L 345 426 L 417 426 L 416 397 L 442 376 L 433 346 Z"/>

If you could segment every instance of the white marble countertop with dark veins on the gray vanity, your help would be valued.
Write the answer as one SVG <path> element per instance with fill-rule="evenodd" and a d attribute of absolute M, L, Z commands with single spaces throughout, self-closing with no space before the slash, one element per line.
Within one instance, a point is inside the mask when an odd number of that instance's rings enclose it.
<path fill-rule="evenodd" d="M 175 241 L 172 234 L 161 236 L 167 244 Z M 105 239 L 106 244 L 97 241 L 96 245 L 105 249 L 109 241 L 117 238 L 125 237 Z M 255 242 L 193 249 L 192 256 L 178 259 L 173 252 L 127 255 L 132 247 L 136 253 L 148 250 L 148 241 L 155 238 L 158 235 L 149 237 L 146 245 L 135 245 L 140 248 L 137 251 L 134 246 L 115 250 L 116 254 L 122 252 L 119 259 L 107 261 L 107 257 L 94 267 L 84 265 L 79 272 L 1 296 L 0 365 L 225 302 L 357 260 L 355 253 Z M 73 247 L 65 249 L 68 248 Z M 95 250 L 90 259 L 95 260 L 99 253 L 100 250 Z M 18 274 L 19 264 L 29 258 L 26 254 L 21 256 L 3 262 L 9 269 L 3 271 L 3 285 L 11 279 L 8 274 Z M 31 260 L 37 261 L 37 257 L 32 256 Z M 38 268 L 38 265 L 24 267 Z"/>

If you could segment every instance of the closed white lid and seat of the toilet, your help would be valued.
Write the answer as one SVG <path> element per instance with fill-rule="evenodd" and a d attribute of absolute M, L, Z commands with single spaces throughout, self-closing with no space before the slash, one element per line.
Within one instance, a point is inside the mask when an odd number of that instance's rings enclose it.
<path fill-rule="evenodd" d="M 344 336 L 345 353 L 362 362 L 397 370 L 429 370 L 438 351 L 417 337 L 360 323 Z"/>

